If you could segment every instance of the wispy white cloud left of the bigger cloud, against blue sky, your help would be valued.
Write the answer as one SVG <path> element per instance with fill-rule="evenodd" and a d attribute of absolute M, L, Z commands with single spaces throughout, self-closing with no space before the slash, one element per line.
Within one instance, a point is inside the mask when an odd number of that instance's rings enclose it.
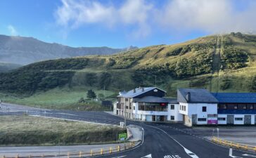
<path fill-rule="evenodd" d="M 55 12 L 56 23 L 65 28 L 76 29 L 82 25 L 103 24 L 107 27 L 115 25 L 136 25 L 132 34 L 146 37 L 150 32 L 147 26 L 151 4 L 144 0 L 127 0 L 117 8 L 113 4 L 103 5 L 98 1 L 62 0 Z"/>

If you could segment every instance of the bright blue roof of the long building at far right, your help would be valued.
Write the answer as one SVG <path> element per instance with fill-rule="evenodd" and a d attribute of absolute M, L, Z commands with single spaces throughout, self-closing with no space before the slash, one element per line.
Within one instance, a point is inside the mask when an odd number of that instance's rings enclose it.
<path fill-rule="evenodd" d="M 256 93 L 212 93 L 219 103 L 256 103 Z"/>

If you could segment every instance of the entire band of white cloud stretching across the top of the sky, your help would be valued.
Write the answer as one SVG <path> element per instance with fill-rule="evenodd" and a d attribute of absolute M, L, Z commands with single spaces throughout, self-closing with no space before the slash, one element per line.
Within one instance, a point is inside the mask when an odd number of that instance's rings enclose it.
<path fill-rule="evenodd" d="M 254 32 L 256 2 L 239 11 L 231 0 L 169 0 L 161 5 L 154 1 L 125 0 L 120 5 L 101 4 L 92 0 L 62 0 L 55 11 L 56 23 L 64 30 L 83 25 L 132 28 L 129 35 L 141 38 L 154 27 L 171 32 L 200 30 L 209 33 Z"/>

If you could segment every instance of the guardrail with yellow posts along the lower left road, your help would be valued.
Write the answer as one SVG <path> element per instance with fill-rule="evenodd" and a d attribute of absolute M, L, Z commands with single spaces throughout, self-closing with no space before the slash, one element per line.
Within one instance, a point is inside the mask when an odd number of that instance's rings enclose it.
<path fill-rule="evenodd" d="M 47 157 L 67 157 L 67 158 L 71 158 L 71 157 L 92 157 L 92 156 L 98 156 L 98 155 L 103 155 L 103 154 L 112 154 L 115 152 L 120 152 L 123 150 L 127 150 L 130 149 L 132 147 L 134 147 L 136 145 L 135 142 L 131 142 L 131 143 L 124 143 L 122 145 L 116 145 L 114 147 L 108 147 L 108 149 L 106 148 L 97 148 L 97 149 L 91 149 L 87 152 L 67 152 L 66 154 L 41 154 L 41 155 L 36 155 L 36 154 L 30 154 L 30 155 L 20 155 L 17 154 L 15 157 L 6 157 L 3 156 L 2 158 L 47 158 Z"/>

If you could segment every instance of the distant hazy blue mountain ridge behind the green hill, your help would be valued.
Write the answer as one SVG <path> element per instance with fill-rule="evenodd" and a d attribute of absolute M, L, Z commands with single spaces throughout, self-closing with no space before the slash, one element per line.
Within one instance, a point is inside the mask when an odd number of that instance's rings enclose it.
<path fill-rule="evenodd" d="M 103 47 L 72 48 L 60 44 L 49 44 L 31 37 L 8 37 L 0 35 L 0 62 L 26 65 L 41 60 L 70 58 L 82 55 L 107 55 L 136 49 Z"/>

